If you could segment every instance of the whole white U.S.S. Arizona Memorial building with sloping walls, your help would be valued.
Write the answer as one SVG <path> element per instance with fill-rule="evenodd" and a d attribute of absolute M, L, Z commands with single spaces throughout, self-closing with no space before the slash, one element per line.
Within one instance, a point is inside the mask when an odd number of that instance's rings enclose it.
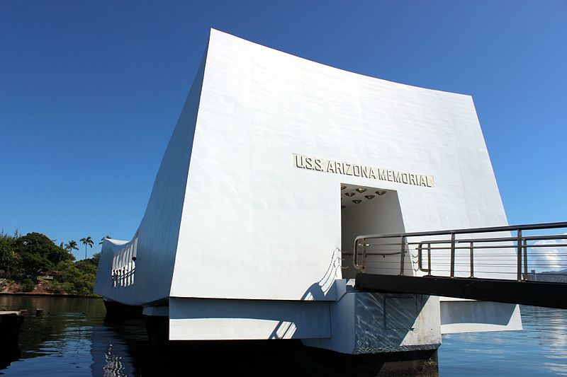
<path fill-rule="evenodd" d="M 131 240 L 104 241 L 95 291 L 167 318 L 170 340 L 437 349 L 442 333 L 518 330 L 520 311 L 359 291 L 354 238 L 504 225 L 470 95 L 211 30 L 145 215 Z"/>

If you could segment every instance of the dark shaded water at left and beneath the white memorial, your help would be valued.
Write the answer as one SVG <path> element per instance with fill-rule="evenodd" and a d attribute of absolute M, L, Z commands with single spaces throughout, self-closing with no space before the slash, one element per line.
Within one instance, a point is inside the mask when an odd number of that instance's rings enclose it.
<path fill-rule="evenodd" d="M 28 309 L 21 359 L 0 370 L 6 376 L 179 376 L 202 374 L 202 366 L 213 376 L 375 376 L 388 361 L 298 340 L 153 344 L 141 318 L 106 321 L 101 299 L 0 296 L 0 308 Z M 35 308 L 45 315 L 35 317 Z"/>

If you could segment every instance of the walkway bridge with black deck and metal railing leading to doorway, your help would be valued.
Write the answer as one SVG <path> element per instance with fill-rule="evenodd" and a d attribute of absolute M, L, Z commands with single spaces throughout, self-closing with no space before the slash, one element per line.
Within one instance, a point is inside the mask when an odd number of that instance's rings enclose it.
<path fill-rule="evenodd" d="M 359 236 L 353 266 L 363 291 L 567 309 L 567 222 Z"/>

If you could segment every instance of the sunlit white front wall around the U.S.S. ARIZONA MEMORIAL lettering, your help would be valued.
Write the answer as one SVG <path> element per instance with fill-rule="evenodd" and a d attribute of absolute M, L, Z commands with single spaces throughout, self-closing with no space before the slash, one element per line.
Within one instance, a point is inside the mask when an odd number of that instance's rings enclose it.
<path fill-rule="evenodd" d="M 298 168 L 293 153 L 432 175 L 434 187 Z M 317 286 L 342 247 L 345 178 L 396 191 L 405 231 L 507 224 L 470 96 L 212 30 L 171 295 L 334 300 Z"/>

